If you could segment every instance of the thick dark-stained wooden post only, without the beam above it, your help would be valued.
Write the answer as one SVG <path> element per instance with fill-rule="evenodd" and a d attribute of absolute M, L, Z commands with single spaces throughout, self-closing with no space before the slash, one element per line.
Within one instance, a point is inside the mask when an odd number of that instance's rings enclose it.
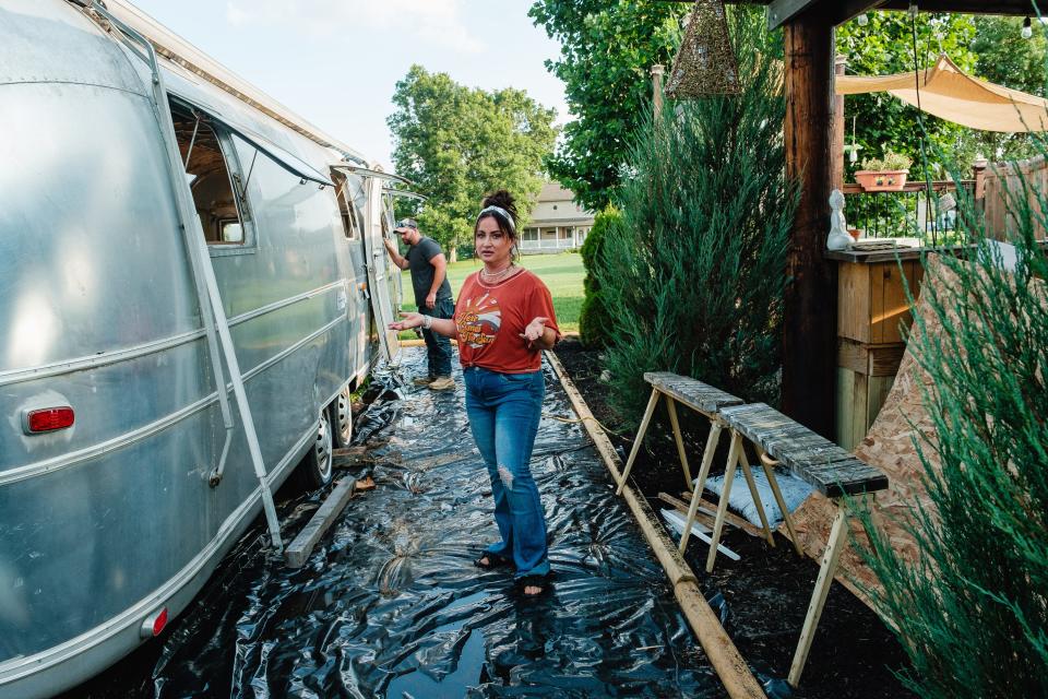
<path fill-rule="evenodd" d="M 833 189 L 833 24 L 805 12 L 784 26 L 786 174 L 800 183 L 783 330 L 783 412 L 833 436 L 836 266 L 823 259 Z"/>

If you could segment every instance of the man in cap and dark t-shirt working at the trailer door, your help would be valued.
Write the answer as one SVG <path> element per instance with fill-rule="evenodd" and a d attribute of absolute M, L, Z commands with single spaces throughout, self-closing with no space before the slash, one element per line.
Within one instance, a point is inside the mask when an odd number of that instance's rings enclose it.
<path fill-rule="evenodd" d="M 394 228 L 401 240 L 407 246 L 407 256 L 402 257 L 396 244 L 384 239 L 393 263 L 402 270 L 410 269 L 412 287 L 415 289 L 415 305 L 418 312 L 433 318 L 451 318 L 455 305 L 451 298 L 451 285 L 448 283 L 448 260 L 440 251 L 440 245 L 418 232 L 414 218 L 403 218 Z M 431 330 L 422 330 L 429 359 L 429 375 L 418 377 L 415 383 L 428 386 L 434 391 L 446 391 L 455 387 L 451 379 L 451 341 Z"/>

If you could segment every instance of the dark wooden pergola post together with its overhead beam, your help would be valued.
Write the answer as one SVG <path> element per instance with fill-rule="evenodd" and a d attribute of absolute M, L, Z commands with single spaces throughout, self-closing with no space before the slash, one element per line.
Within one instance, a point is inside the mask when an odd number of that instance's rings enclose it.
<path fill-rule="evenodd" d="M 786 168 L 801 185 L 790 234 L 783 335 L 783 410 L 834 436 L 837 368 L 837 266 L 824 257 L 830 192 L 843 143 L 834 91 L 834 27 L 872 10 L 906 10 L 910 0 L 727 0 L 767 7 L 769 29 L 785 38 Z M 1036 15 L 1031 0 L 916 0 L 920 12 Z"/>

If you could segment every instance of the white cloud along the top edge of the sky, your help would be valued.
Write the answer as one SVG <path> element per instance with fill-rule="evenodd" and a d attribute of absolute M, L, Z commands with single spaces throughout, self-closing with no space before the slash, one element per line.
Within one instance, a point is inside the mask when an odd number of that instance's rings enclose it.
<path fill-rule="evenodd" d="M 483 51 L 485 44 L 469 34 L 461 10 L 462 0 L 228 0 L 226 20 L 233 26 L 278 25 L 349 42 L 361 32 L 382 31 L 391 43 Z"/>

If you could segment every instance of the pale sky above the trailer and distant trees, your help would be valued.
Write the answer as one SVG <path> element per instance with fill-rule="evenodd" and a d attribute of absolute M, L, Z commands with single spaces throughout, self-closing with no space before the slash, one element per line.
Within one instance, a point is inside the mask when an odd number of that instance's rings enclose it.
<path fill-rule="evenodd" d="M 385 119 L 412 63 L 471 87 L 516 87 L 568 120 L 560 51 L 533 0 L 131 0 L 277 102 L 388 169 Z"/>

